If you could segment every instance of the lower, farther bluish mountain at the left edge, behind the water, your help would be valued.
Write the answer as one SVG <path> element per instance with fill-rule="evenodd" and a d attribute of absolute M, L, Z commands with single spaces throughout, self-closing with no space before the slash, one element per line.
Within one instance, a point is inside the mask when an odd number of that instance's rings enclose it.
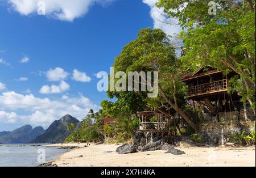
<path fill-rule="evenodd" d="M 0 132 L 0 143 L 31 143 L 39 135 L 44 133 L 42 127 L 32 128 L 31 125 L 24 125 L 13 132 Z"/>

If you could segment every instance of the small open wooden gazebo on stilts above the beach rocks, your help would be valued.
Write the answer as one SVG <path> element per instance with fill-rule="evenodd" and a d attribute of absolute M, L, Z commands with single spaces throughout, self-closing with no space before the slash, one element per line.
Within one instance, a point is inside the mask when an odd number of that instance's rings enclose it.
<path fill-rule="evenodd" d="M 148 142 L 148 135 L 150 135 L 152 142 L 154 137 L 162 136 L 163 138 L 164 134 L 170 134 L 170 120 L 174 117 L 162 109 L 158 109 L 158 111 L 137 112 L 137 115 L 139 116 L 139 130 L 144 133 L 146 143 Z M 151 121 L 153 117 L 156 121 Z"/>

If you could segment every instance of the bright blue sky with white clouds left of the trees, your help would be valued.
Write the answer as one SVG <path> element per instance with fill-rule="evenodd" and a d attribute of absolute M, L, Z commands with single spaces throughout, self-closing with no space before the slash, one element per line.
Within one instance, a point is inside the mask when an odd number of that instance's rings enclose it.
<path fill-rule="evenodd" d="M 152 19 L 156 0 L 55 1 L 40 16 L 25 1 L 0 0 L 0 131 L 99 109 L 108 98 L 95 74 L 109 73 L 139 29 L 168 28 Z"/>

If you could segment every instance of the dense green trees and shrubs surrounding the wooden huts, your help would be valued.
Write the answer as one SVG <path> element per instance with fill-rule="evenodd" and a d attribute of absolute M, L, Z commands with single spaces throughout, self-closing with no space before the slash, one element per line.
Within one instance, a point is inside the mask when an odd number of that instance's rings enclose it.
<path fill-rule="evenodd" d="M 159 0 L 156 5 L 170 17 L 179 20 L 183 31 L 179 39 L 182 55 L 177 57 L 170 36 L 160 29 L 141 29 L 115 58 L 115 71 L 158 71 L 159 95 L 147 98 L 147 92 L 108 92 L 110 99 L 101 103 L 97 113 L 92 110 L 66 141 L 103 142 L 111 136 L 115 141 L 131 139 L 138 129 L 138 111 L 158 108 L 181 118 L 172 121 L 174 134 L 191 134 L 200 124 L 199 108 L 185 105 L 184 74 L 200 66 L 212 65 L 218 70 L 230 69 L 237 76 L 229 83 L 229 92 L 239 92 L 241 101 L 249 103 L 255 115 L 255 1 L 216 0 L 216 13 L 209 14 L 209 0 Z M 143 80 L 143 78 L 140 78 Z M 103 124 L 103 118 L 116 118 Z M 74 128 L 69 125 L 69 129 Z M 255 142 L 255 132 L 247 139 Z M 254 138 L 253 138 L 254 137 Z M 201 138 L 194 134 L 194 138 Z M 109 139 L 108 139 L 109 141 Z"/>

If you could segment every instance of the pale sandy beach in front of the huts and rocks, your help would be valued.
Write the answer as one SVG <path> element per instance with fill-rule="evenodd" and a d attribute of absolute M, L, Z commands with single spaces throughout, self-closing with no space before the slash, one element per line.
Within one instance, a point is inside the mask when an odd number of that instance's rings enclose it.
<path fill-rule="evenodd" d="M 76 143 L 49 146 L 77 146 Z M 59 167 L 172 167 L 172 166 L 255 166 L 255 146 L 251 147 L 175 147 L 184 155 L 164 154 L 166 151 L 147 151 L 118 155 L 119 145 L 92 145 L 73 149 L 61 155 L 53 164 Z"/>

